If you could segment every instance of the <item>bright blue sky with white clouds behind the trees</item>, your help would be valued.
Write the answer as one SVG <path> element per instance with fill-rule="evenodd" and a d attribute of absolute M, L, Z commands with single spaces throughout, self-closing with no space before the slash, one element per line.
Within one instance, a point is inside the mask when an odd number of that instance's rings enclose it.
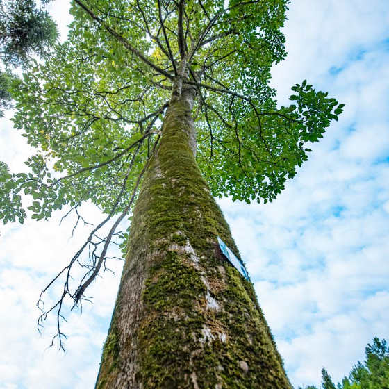
<path fill-rule="evenodd" d="M 67 2 L 50 10 L 66 35 Z M 297 388 L 320 385 L 323 366 L 340 381 L 374 336 L 389 340 L 388 0 L 292 0 L 283 31 L 280 104 L 307 79 L 345 112 L 274 203 L 219 203 Z M 1 119 L 0 158 L 14 172 L 32 153 L 20 135 Z M 35 303 L 89 231 L 70 238 L 62 215 L 0 226 L 0 389 L 94 386 L 122 263 L 92 285 L 94 304 L 69 313 L 67 354 L 47 349 L 54 323 L 38 333 Z"/>

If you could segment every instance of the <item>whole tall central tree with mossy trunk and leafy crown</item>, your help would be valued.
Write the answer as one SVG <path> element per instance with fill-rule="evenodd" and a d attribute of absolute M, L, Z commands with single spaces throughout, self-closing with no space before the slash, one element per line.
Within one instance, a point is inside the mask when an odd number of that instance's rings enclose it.
<path fill-rule="evenodd" d="M 276 108 L 268 81 L 285 56 L 285 9 L 76 0 L 69 41 L 18 85 L 15 126 L 39 151 L 31 173 L 3 174 L 0 217 L 24 221 L 22 191 L 34 219 L 69 204 L 83 220 L 88 200 L 107 214 L 53 280 L 65 276 L 58 301 L 41 305 L 41 321 L 57 312 L 61 346 L 67 297 L 85 299 L 138 198 L 99 388 L 289 387 L 251 283 L 218 248 L 220 236 L 239 256 L 197 167 L 214 195 L 272 201 L 307 159 L 306 142 L 341 113 L 306 81 L 292 88 L 295 104 Z"/>

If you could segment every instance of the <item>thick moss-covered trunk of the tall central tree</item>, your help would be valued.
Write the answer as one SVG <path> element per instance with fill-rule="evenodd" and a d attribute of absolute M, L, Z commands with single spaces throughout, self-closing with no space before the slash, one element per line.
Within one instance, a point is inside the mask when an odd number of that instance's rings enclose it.
<path fill-rule="evenodd" d="M 195 160 L 194 90 L 172 97 L 144 176 L 98 389 L 290 389 L 253 285 Z"/>

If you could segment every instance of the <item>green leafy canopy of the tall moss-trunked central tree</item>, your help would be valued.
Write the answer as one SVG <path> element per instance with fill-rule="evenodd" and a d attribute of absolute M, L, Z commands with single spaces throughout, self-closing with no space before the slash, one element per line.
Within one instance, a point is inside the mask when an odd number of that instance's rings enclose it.
<path fill-rule="evenodd" d="M 37 153 L 26 161 L 31 172 L 0 176 L 0 218 L 24 222 L 23 194 L 36 220 L 65 205 L 82 220 L 85 201 L 108 215 L 105 222 L 128 216 L 169 100 L 183 88 L 197 88 L 197 163 L 213 195 L 273 201 L 343 106 L 307 81 L 292 87 L 289 106 L 277 105 L 270 69 L 286 56 L 287 7 L 286 0 L 74 0 L 68 40 L 13 82 L 15 128 Z M 101 225 L 67 274 L 88 245 L 97 262 Z M 85 277 L 95 270 L 87 269 Z M 68 286 L 64 295 L 78 301 Z"/>

